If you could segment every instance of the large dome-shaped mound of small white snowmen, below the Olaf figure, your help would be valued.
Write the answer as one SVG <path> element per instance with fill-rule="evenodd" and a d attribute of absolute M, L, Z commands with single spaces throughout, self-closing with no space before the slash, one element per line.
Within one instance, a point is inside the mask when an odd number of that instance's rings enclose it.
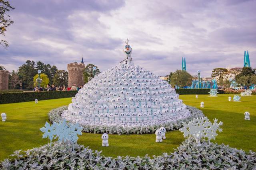
<path fill-rule="evenodd" d="M 81 125 L 155 125 L 189 115 L 168 82 L 127 64 L 94 76 L 62 113 L 68 121 Z"/>

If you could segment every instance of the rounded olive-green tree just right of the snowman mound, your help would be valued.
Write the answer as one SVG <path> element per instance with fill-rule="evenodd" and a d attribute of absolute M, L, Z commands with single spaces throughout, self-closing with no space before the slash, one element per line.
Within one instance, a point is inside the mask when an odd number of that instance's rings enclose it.
<path fill-rule="evenodd" d="M 192 76 L 185 70 L 176 70 L 171 76 L 172 86 L 190 86 L 192 84 Z"/>

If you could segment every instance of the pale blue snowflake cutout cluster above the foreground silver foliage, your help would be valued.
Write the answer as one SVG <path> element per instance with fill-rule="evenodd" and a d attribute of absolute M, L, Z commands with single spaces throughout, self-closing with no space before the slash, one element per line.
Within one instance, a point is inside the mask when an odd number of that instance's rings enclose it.
<path fill-rule="evenodd" d="M 45 122 L 44 127 L 40 128 L 40 131 L 44 133 L 43 138 L 50 139 L 50 145 L 52 144 L 52 139 L 58 138 L 58 142 L 71 142 L 74 148 L 74 143 L 78 140 L 77 135 L 82 135 L 82 129 L 78 123 L 67 123 L 66 119 L 64 119 L 59 123 L 53 122 L 52 125 Z"/>

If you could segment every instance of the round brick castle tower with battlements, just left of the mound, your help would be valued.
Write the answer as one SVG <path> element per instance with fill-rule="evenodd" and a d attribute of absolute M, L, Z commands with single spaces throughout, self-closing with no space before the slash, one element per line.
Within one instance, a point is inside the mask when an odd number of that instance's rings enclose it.
<path fill-rule="evenodd" d="M 84 61 L 82 58 L 81 63 L 70 63 L 68 64 L 68 86 L 72 87 L 76 84 L 77 87 L 84 85 L 83 69 Z"/>

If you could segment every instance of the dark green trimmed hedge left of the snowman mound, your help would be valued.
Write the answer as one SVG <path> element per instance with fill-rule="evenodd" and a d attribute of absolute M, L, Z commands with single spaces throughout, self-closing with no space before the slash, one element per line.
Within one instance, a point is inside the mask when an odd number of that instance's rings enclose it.
<path fill-rule="evenodd" d="M 0 104 L 74 97 L 78 91 L 0 93 Z"/>

